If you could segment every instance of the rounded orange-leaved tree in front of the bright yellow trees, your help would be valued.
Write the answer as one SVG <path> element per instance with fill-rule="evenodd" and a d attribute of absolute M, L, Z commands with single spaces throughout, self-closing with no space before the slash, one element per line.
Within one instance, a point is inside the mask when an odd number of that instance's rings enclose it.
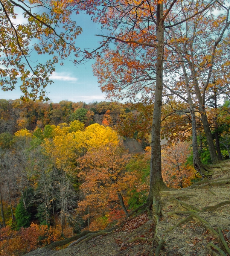
<path fill-rule="evenodd" d="M 86 217 L 105 215 L 117 207 L 128 215 L 127 190 L 136 182 L 135 174 L 125 170 L 128 161 L 129 155 L 121 143 L 91 148 L 81 158 L 82 171 L 79 175 L 83 200 L 79 203 L 79 210 Z"/>

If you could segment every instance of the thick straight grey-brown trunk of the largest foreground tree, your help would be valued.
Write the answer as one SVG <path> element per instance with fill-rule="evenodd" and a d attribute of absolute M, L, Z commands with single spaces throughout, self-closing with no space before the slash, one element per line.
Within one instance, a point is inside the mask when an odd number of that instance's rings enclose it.
<path fill-rule="evenodd" d="M 161 106 L 163 91 L 163 51 L 164 51 L 164 22 L 163 3 L 157 4 L 157 63 L 156 63 L 156 88 L 154 110 L 152 118 L 152 137 L 151 137 L 151 162 L 150 162 L 150 188 L 149 201 L 152 202 L 155 195 L 160 190 L 166 189 L 166 185 L 161 175 Z"/>

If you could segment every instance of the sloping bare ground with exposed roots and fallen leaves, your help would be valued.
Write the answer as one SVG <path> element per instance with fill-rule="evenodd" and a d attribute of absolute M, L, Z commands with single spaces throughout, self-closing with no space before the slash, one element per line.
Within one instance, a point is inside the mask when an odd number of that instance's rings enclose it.
<path fill-rule="evenodd" d="M 158 217 L 149 220 L 144 212 L 107 235 L 59 251 L 41 248 L 26 255 L 151 256 L 158 246 L 152 241 L 155 232 L 158 241 L 165 240 L 161 256 L 228 255 L 225 247 L 230 245 L 230 160 L 222 162 L 221 168 L 212 170 L 212 177 L 201 184 L 161 192 L 161 213 L 155 215 Z M 218 228 L 222 230 L 225 247 Z M 130 241 L 135 238 L 135 241 Z M 210 247 L 210 242 L 223 251 Z"/>

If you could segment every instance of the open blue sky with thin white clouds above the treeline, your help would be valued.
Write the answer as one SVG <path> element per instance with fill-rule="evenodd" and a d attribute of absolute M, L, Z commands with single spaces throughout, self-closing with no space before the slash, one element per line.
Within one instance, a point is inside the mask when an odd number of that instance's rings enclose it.
<path fill-rule="evenodd" d="M 101 38 L 95 34 L 102 34 L 100 25 L 93 23 L 91 17 L 85 14 L 76 15 L 74 20 L 83 30 L 82 34 L 76 38 L 76 47 L 82 49 L 98 47 L 98 41 Z M 33 61 L 39 63 L 47 60 L 45 55 L 35 55 L 33 58 Z M 84 101 L 86 103 L 105 101 L 105 94 L 101 92 L 97 78 L 93 75 L 91 67 L 93 63 L 94 61 L 91 60 L 78 66 L 74 66 L 71 61 L 64 61 L 64 66 L 56 64 L 56 72 L 51 77 L 54 83 L 46 87 L 48 98 L 52 102 L 62 100 Z M 14 91 L 4 92 L 0 90 L 0 99 L 18 99 L 21 95 L 18 87 Z"/>

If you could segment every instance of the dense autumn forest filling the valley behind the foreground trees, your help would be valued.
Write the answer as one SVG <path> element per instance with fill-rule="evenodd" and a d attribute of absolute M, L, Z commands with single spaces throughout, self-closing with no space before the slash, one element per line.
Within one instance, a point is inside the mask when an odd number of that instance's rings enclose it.
<path fill-rule="evenodd" d="M 223 159 L 229 158 L 229 105 L 225 100 L 207 112 Z M 171 106 L 166 102 L 163 109 Z M 151 108 L 116 102 L 0 100 L 0 225 L 1 237 L 8 237 L 2 239 L 1 255 L 26 253 L 84 229 L 105 229 L 146 203 Z M 189 116 L 172 113 L 162 127 L 167 186 L 183 188 L 201 180 L 192 163 Z M 201 123 L 197 132 L 202 163 L 210 164 Z M 124 146 L 129 137 L 137 139 L 145 153 L 129 154 Z"/>

